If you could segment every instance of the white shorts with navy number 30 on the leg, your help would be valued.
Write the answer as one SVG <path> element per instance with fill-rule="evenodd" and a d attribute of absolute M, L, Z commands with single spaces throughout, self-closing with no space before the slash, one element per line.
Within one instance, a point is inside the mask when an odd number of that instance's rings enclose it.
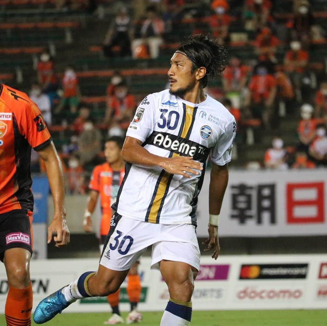
<path fill-rule="evenodd" d="M 200 250 L 194 225 L 154 224 L 128 217 L 112 224 L 114 230 L 101 256 L 101 265 L 115 271 L 128 270 L 153 245 L 151 269 L 158 269 L 158 263 L 166 259 L 199 270 Z"/>

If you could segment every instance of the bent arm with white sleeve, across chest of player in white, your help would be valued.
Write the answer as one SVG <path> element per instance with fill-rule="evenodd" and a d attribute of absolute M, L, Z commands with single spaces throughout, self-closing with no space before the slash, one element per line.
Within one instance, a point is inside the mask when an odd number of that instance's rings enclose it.
<path fill-rule="evenodd" d="M 193 161 L 193 157 L 162 157 L 152 154 L 142 147 L 146 138 L 153 132 L 155 123 L 155 98 L 153 94 L 150 94 L 137 108 L 135 117 L 127 130 L 122 151 L 124 160 L 146 167 L 159 166 L 168 173 L 180 174 L 186 178 L 190 178 L 186 172 L 198 174 L 199 172 L 196 170 L 202 170 L 202 165 Z"/>

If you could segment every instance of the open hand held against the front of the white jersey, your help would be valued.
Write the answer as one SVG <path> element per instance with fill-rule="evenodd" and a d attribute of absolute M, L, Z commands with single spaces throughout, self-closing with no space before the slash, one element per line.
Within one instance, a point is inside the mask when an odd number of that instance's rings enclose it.
<path fill-rule="evenodd" d="M 162 163 L 162 168 L 171 174 L 180 174 L 186 178 L 191 178 L 189 173 L 199 174 L 196 170 L 203 170 L 202 164 L 193 161 L 191 156 L 176 156 L 165 158 Z"/>

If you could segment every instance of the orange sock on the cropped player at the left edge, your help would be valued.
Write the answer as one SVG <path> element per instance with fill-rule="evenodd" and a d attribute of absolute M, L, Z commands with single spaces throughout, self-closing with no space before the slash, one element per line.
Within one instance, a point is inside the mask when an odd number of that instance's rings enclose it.
<path fill-rule="evenodd" d="M 16 289 L 9 285 L 5 307 L 7 326 L 30 326 L 32 305 L 32 284 L 25 289 Z"/>

